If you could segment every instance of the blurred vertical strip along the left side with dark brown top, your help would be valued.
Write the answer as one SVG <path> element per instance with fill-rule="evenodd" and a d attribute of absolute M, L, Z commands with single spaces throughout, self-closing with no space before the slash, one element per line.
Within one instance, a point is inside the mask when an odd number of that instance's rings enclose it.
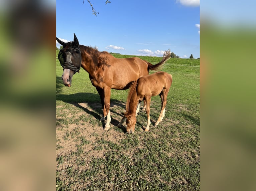
<path fill-rule="evenodd" d="M 55 1 L 0 1 L 0 190 L 55 189 Z"/>

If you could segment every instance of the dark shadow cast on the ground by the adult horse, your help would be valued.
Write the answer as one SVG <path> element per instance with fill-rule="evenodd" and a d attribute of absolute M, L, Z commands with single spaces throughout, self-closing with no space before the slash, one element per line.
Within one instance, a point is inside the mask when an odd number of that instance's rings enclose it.
<path fill-rule="evenodd" d="M 102 117 L 102 105 L 101 105 L 99 94 L 87 93 L 87 92 L 76 93 L 76 94 L 61 94 L 63 86 L 64 85 L 62 83 L 61 77 L 56 76 L 56 100 L 73 104 L 74 106 L 83 109 L 89 115 L 92 115 L 95 119 L 100 120 L 100 118 Z M 84 106 L 81 103 L 86 103 L 86 106 Z M 122 107 L 123 108 L 122 112 L 123 112 L 125 111 L 125 103 L 117 99 L 110 100 L 111 115 L 116 114 L 123 117 L 121 112 L 119 113 L 115 111 L 115 109 L 113 108 L 114 106 Z M 120 121 L 112 117 L 110 123 L 117 127 L 119 122 Z M 102 128 L 104 128 L 104 125 L 105 123 L 102 122 Z M 124 126 L 121 126 L 120 128 L 123 130 L 123 132 L 126 132 L 126 128 Z"/>

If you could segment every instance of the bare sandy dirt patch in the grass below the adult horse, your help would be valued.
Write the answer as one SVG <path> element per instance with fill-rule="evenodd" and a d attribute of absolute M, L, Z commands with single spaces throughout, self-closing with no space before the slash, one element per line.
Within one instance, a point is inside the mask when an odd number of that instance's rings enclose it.
<path fill-rule="evenodd" d="M 68 124 L 66 127 L 62 124 L 57 124 L 56 126 L 56 139 L 58 140 L 56 143 L 58 143 L 61 147 L 56 151 L 57 155 L 65 155 L 72 151 L 77 150 L 77 145 L 80 144 L 81 140 L 79 137 L 83 137 L 86 141 L 89 141 L 88 144 L 83 146 L 83 151 L 86 153 L 87 157 L 90 158 L 90 156 L 94 157 L 104 157 L 104 153 L 106 150 L 104 148 L 99 148 L 99 150 L 95 149 L 97 147 L 97 141 L 99 140 L 105 140 L 105 141 L 111 141 L 116 144 L 120 144 L 120 140 L 124 138 L 124 132 L 122 130 L 117 130 L 118 127 L 111 124 L 111 128 L 107 131 L 103 129 L 103 125 L 100 122 L 100 118 L 95 118 L 91 115 L 89 112 L 95 112 L 95 109 L 101 109 L 100 104 L 87 104 L 87 103 L 78 103 L 80 108 L 84 108 L 84 111 L 79 111 L 76 113 L 75 118 L 79 119 L 79 116 L 84 116 L 84 118 L 87 118 L 88 121 L 77 120 L 76 124 Z M 115 121 L 116 123 L 121 121 L 122 115 L 118 115 L 118 113 L 123 112 L 124 108 L 122 104 L 114 104 L 112 105 L 114 108 L 110 109 L 111 115 L 113 113 L 112 121 Z M 120 112 L 119 112 L 120 110 Z M 113 112 L 112 112 L 113 111 Z M 63 113 L 66 113 L 67 109 L 63 109 Z M 114 117 L 113 117 L 114 116 Z M 56 116 L 57 121 L 60 119 L 65 119 L 68 121 L 71 121 L 71 118 L 74 117 L 74 114 L 69 113 L 66 117 L 64 116 Z M 63 127 L 64 126 L 64 127 Z M 74 134 L 73 131 L 76 131 L 78 129 L 77 134 Z"/>

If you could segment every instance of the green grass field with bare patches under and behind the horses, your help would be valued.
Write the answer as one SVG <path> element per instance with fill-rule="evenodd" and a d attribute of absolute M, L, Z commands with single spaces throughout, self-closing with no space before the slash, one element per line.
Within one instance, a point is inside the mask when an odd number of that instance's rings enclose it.
<path fill-rule="evenodd" d="M 152 97 L 148 132 L 145 111 L 134 134 L 117 124 L 128 90 L 111 90 L 111 127 L 103 130 L 100 97 L 81 69 L 65 87 L 56 51 L 56 190 L 199 190 L 200 60 L 171 58 L 162 71 L 173 76 L 165 117 Z M 113 54 L 118 58 L 132 57 Z M 141 57 L 152 64 L 161 58 Z M 151 74 L 152 72 L 150 72 Z"/>

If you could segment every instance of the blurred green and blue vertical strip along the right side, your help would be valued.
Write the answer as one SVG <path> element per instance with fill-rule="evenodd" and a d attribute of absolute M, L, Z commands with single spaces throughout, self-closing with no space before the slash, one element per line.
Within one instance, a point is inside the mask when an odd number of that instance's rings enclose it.
<path fill-rule="evenodd" d="M 255 5 L 200 4 L 201 190 L 256 189 Z"/>

